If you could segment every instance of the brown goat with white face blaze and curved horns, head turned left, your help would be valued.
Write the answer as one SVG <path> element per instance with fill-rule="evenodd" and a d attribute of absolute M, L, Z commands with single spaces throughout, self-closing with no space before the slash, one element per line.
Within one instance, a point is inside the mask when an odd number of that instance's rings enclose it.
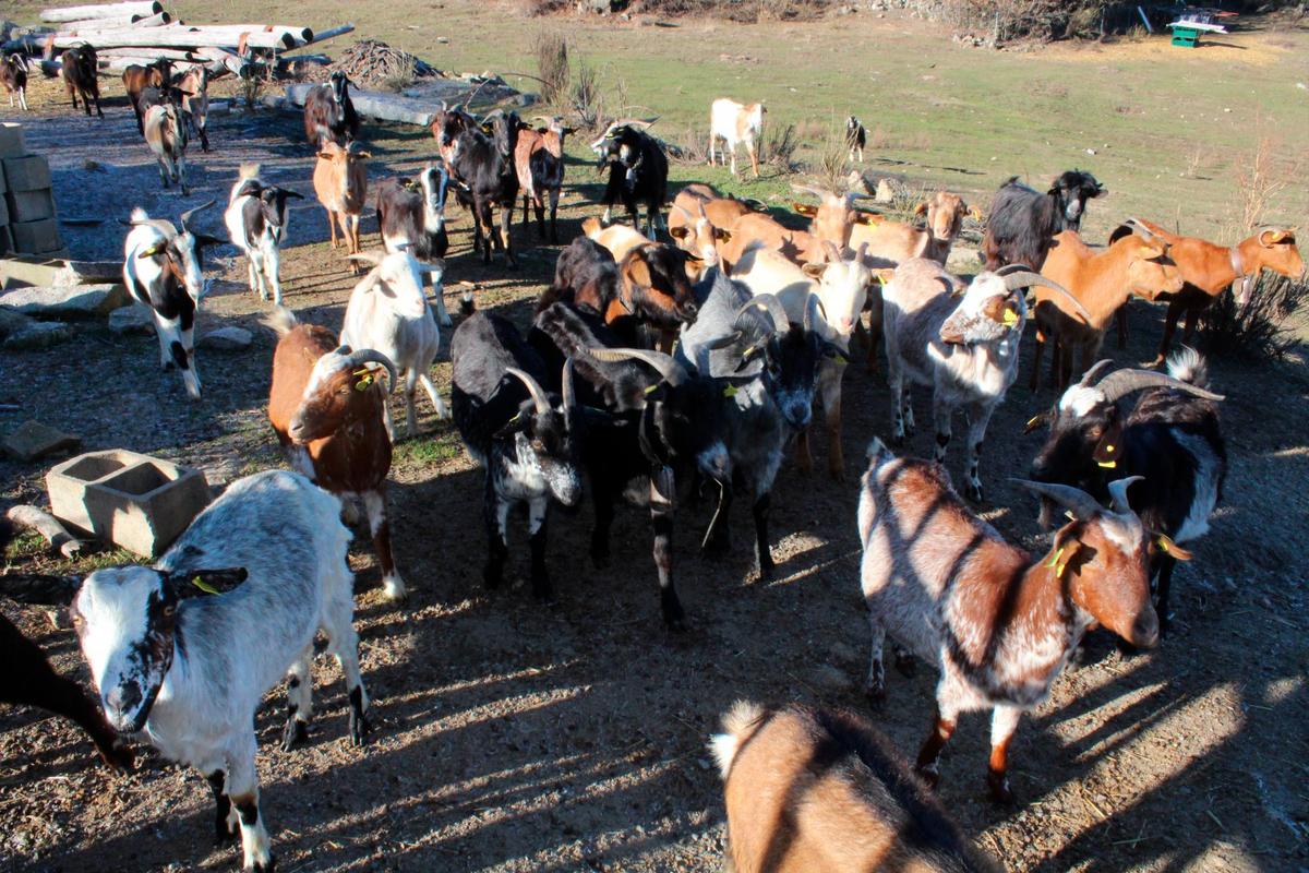
<path fill-rule="evenodd" d="M 298 325 L 288 309 L 266 322 L 278 335 L 268 389 L 268 421 L 296 472 L 344 499 L 359 497 L 368 514 L 386 599 L 406 597 L 391 554 L 386 518 L 386 474 L 391 438 L 384 425 L 386 394 L 377 385 L 385 370 L 395 390 L 395 365 L 373 348 L 338 346 L 317 325 Z M 376 365 L 376 366 L 374 366 Z"/>

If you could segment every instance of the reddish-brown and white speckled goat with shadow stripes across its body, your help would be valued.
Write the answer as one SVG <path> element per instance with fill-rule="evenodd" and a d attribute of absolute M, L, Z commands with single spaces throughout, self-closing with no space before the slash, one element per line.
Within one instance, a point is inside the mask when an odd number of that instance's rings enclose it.
<path fill-rule="evenodd" d="M 1012 802 L 1009 741 L 1050 694 L 1093 623 L 1149 648 L 1158 618 L 1145 576 L 1148 539 L 1127 505 L 1136 478 L 1109 484 L 1111 509 L 1068 486 L 1020 484 L 1071 510 L 1050 551 L 1031 560 L 973 514 L 939 463 L 897 458 L 873 440 L 859 495 L 860 582 L 873 656 L 868 694 L 886 695 L 888 633 L 941 671 L 918 774 L 935 787 L 961 712 L 992 709 L 988 785 Z"/>

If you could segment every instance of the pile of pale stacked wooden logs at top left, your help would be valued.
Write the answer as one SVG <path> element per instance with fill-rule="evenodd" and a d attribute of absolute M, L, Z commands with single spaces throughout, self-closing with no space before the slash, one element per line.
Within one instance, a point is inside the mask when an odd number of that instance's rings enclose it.
<path fill-rule="evenodd" d="M 283 51 L 355 29 L 343 25 L 314 33 L 298 25 L 188 25 L 175 20 L 158 0 L 43 9 L 41 20 L 47 24 L 17 34 L 4 48 L 26 50 L 54 62 L 63 50 L 85 43 L 96 47 L 101 67 L 110 72 L 168 58 L 174 63 L 206 64 L 219 76 L 247 75 L 275 63 Z"/>

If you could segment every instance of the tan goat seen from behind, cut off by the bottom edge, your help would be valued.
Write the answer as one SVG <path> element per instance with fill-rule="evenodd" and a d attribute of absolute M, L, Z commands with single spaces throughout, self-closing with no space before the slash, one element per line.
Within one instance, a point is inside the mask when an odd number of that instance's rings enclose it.
<path fill-rule="evenodd" d="M 738 700 L 709 747 L 736 873 L 988 873 L 890 741 L 847 711 Z"/>

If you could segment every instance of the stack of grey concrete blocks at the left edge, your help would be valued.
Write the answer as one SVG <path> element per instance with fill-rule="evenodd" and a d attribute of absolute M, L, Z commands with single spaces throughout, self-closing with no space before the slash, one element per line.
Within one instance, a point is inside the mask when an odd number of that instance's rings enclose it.
<path fill-rule="evenodd" d="M 21 124 L 0 124 L 0 253 L 54 257 L 63 250 L 50 165 L 27 154 Z"/>

